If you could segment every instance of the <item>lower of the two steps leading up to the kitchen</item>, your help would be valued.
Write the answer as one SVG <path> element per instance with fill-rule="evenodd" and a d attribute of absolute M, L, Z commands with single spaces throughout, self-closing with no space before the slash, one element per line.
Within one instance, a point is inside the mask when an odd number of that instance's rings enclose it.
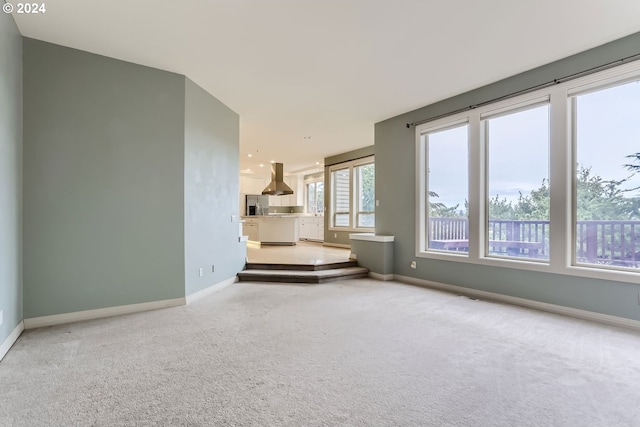
<path fill-rule="evenodd" d="M 241 282 L 326 283 L 336 280 L 367 277 L 364 267 L 343 267 L 330 270 L 244 270 L 238 273 Z"/>

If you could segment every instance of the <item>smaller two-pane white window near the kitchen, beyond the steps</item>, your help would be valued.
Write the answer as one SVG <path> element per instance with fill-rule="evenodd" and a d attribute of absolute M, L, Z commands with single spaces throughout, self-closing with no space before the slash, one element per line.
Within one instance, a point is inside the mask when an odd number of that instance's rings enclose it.
<path fill-rule="evenodd" d="M 373 158 L 335 165 L 331 171 L 331 219 L 336 229 L 375 226 L 375 165 Z"/>

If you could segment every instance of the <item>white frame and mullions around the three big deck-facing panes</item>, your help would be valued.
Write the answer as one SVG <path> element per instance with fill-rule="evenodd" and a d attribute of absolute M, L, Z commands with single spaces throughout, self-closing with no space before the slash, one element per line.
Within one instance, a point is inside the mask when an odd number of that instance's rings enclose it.
<path fill-rule="evenodd" d="M 640 79 L 640 61 L 617 66 L 589 76 L 560 83 L 549 88 L 498 101 L 463 113 L 426 122 L 415 127 L 416 158 L 416 212 L 415 256 L 482 264 L 495 267 L 515 268 L 562 275 L 588 277 L 603 280 L 617 280 L 640 284 L 640 271 L 614 270 L 597 266 L 575 265 L 573 251 L 575 245 L 575 142 L 572 131 L 571 99 L 586 91 L 605 89 L 607 86 L 623 84 Z M 549 179 L 550 187 L 550 228 L 549 260 L 543 262 L 526 258 L 488 257 L 485 255 L 487 147 L 482 132 L 483 117 L 503 111 L 515 111 L 523 105 L 548 99 L 550 105 L 550 147 Z M 445 128 L 454 123 L 469 122 L 469 252 L 461 255 L 455 252 L 427 250 L 427 214 L 425 198 L 427 191 L 425 178 L 425 147 L 421 134 Z"/>

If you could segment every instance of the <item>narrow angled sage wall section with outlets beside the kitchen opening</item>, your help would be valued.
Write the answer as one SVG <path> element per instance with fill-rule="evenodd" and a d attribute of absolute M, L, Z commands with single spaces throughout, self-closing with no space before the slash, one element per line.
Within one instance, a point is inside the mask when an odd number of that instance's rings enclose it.
<path fill-rule="evenodd" d="M 185 79 L 185 289 L 192 294 L 243 269 L 238 242 L 239 116 Z M 212 269 L 215 266 L 215 269 Z M 200 277 L 199 269 L 203 276 Z"/>

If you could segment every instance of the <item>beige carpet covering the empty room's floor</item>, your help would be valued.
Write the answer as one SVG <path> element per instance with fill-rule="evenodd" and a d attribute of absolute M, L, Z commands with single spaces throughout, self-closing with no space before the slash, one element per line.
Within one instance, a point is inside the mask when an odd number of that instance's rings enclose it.
<path fill-rule="evenodd" d="M 640 334 L 393 282 L 28 331 L 2 426 L 638 426 Z"/>

